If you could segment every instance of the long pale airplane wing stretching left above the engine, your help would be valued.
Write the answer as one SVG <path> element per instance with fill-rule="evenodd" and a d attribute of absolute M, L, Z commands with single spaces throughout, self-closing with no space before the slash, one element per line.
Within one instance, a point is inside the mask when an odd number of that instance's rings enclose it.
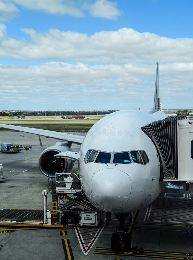
<path fill-rule="evenodd" d="M 5 125 L 0 124 L 0 127 L 11 129 L 16 132 L 25 132 L 25 133 L 32 133 L 34 135 L 41 135 L 45 136 L 47 138 L 55 138 L 62 141 L 68 141 L 69 143 L 75 143 L 75 144 L 81 144 L 83 142 L 84 136 L 81 135 L 73 135 L 65 132 L 55 132 L 50 130 L 43 130 L 43 129 L 37 129 L 37 128 L 31 128 L 31 127 L 21 127 L 21 126 L 15 126 L 15 125 Z"/>

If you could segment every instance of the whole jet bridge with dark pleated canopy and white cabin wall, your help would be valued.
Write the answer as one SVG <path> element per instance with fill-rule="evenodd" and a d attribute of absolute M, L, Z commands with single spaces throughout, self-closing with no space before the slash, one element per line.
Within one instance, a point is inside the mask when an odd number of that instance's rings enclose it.
<path fill-rule="evenodd" d="M 171 117 L 144 127 L 160 159 L 160 181 L 193 182 L 193 119 Z"/>

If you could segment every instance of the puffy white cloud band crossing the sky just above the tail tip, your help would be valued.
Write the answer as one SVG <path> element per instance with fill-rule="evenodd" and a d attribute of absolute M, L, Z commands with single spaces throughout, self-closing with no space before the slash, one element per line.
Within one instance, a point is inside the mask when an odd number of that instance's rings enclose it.
<path fill-rule="evenodd" d="M 68 62 L 192 62 L 192 38 L 170 39 L 149 32 L 122 28 L 101 31 L 91 36 L 50 29 L 46 33 L 22 29 L 31 42 L 6 36 L 0 27 L 0 57 L 18 60 L 58 60 Z M 6 37 L 5 37 L 6 36 Z"/>

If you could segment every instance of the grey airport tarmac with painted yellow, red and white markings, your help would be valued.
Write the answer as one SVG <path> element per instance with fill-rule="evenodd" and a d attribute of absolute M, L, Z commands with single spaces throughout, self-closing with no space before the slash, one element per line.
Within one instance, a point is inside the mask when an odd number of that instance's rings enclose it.
<path fill-rule="evenodd" d="M 44 148 L 58 141 L 45 137 L 41 140 Z M 42 209 L 41 192 L 48 190 L 48 179 L 38 168 L 41 153 L 38 136 L 0 132 L 0 143 L 32 144 L 30 150 L 20 153 L 0 153 L 5 178 L 0 182 L 0 209 Z M 72 146 L 73 151 L 78 152 L 79 148 Z M 175 184 L 184 186 L 184 183 Z M 188 191 L 166 188 L 152 205 L 134 214 L 134 223 L 130 226 L 133 247 L 143 248 L 144 254 L 112 252 L 111 235 L 118 220 L 113 218 L 106 224 L 104 214 L 104 222 L 97 227 L 33 229 L 0 225 L 0 259 L 193 259 L 192 198 L 192 185 Z M 49 193 L 49 209 L 51 201 Z"/>

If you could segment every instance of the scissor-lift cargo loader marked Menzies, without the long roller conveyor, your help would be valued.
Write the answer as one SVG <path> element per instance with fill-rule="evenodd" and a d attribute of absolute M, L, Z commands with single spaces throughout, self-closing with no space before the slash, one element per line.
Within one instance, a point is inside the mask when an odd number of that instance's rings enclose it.
<path fill-rule="evenodd" d="M 73 168 L 73 170 L 75 169 L 77 171 L 78 168 Z M 77 174 L 52 174 L 55 175 L 55 179 L 49 177 L 49 192 L 52 194 L 53 203 L 55 201 L 55 205 L 57 205 L 58 218 L 56 223 L 62 225 L 97 226 L 102 220 L 102 211 L 96 209 L 88 201 Z M 53 213 L 51 212 L 52 215 Z"/>

